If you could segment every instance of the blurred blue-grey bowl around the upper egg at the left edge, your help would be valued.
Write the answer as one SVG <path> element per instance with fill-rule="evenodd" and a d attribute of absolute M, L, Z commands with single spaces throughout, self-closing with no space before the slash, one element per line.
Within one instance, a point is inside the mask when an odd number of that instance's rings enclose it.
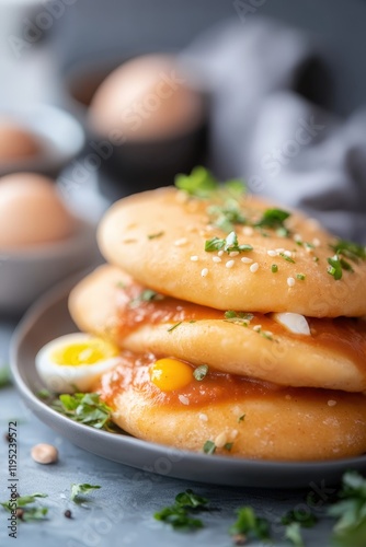
<path fill-rule="evenodd" d="M 34 135 L 41 144 L 41 153 L 35 156 L 0 162 L 0 176 L 26 171 L 56 178 L 84 148 L 82 125 L 71 114 L 55 106 L 2 106 L 0 115 Z"/>

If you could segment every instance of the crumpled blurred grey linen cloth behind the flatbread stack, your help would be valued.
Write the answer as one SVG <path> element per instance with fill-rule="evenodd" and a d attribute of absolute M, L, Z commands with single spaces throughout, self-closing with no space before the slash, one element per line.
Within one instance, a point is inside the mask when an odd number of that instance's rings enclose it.
<path fill-rule="evenodd" d="M 211 97 L 216 174 L 366 243 L 366 108 L 331 112 L 327 55 L 314 36 L 253 16 L 210 30 L 182 61 Z"/>

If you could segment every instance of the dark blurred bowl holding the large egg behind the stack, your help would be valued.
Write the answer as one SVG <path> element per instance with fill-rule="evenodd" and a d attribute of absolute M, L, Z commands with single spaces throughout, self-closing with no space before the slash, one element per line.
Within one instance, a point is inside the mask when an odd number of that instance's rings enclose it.
<path fill-rule="evenodd" d="M 100 177 L 100 182 L 102 193 L 111 199 L 172 184 L 176 173 L 187 173 L 198 163 L 205 162 L 207 149 L 208 96 L 203 91 L 198 92 L 202 116 L 184 132 L 176 131 L 175 135 L 155 140 L 126 140 L 123 144 L 112 144 L 107 137 L 91 127 L 88 112 L 96 89 L 115 68 L 127 60 L 130 57 L 87 59 L 70 67 L 64 78 L 68 106 L 87 130 L 85 154 L 91 162 L 94 160 L 100 163 L 100 167 L 108 175 Z"/>

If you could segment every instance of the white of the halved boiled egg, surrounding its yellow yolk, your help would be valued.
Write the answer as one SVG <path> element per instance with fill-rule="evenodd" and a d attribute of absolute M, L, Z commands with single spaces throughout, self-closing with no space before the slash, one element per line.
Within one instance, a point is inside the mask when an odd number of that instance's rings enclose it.
<path fill-rule="evenodd" d="M 53 353 L 73 344 L 84 344 L 93 336 L 82 333 L 65 335 L 46 344 L 35 358 L 35 365 L 45 386 L 54 393 L 88 393 L 101 375 L 113 369 L 119 361 L 118 356 L 98 361 L 93 364 L 67 365 L 53 361 Z"/>

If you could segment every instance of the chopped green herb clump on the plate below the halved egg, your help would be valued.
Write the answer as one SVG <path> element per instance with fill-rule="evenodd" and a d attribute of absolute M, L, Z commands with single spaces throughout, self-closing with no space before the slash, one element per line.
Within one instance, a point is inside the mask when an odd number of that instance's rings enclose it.
<path fill-rule="evenodd" d="M 101 400 L 98 393 L 62 394 L 58 398 L 53 398 L 49 404 L 54 410 L 71 418 L 73 421 L 95 429 L 116 431 L 116 427 L 111 419 L 112 408 Z"/>

